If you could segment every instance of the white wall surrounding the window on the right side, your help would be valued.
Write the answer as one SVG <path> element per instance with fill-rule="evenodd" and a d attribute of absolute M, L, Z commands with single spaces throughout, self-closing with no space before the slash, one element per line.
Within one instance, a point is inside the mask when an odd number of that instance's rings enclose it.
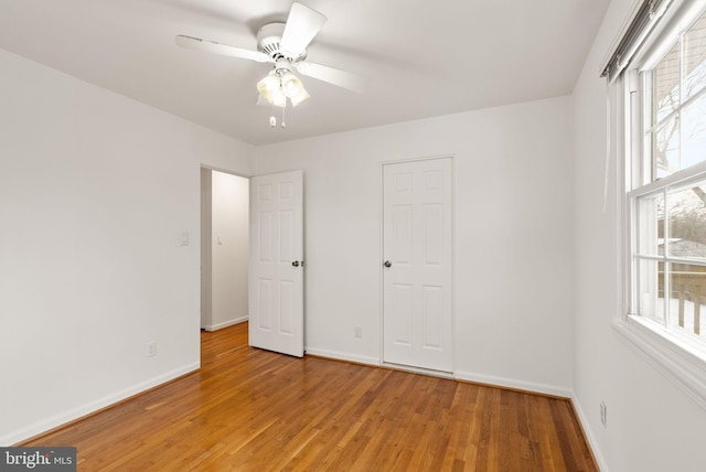
<path fill-rule="evenodd" d="M 638 354 L 610 321 L 618 299 L 616 162 L 603 212 L 606 83 L 601 61 L 634 0 L 613 0 L 574 90 L 576 180 L 576 405 L 603 470 L 704 471 L 706 411 Z M 608 405 L 608 427 L 599 404 Z"/>

